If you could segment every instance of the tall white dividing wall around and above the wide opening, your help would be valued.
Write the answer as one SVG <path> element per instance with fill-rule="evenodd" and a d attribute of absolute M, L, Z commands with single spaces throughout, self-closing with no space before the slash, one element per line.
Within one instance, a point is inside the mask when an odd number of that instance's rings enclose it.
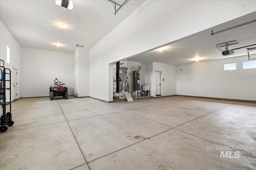
<path fill-rule="evenodd" d="M 216 1 L 146 1 L 90 49 L 90 96 L 112 100 L 110 63 L 254 12 L 256 2 L 222 1 L 221 4 Z M 232 10 L 226 10 L 226 6 Z"/>

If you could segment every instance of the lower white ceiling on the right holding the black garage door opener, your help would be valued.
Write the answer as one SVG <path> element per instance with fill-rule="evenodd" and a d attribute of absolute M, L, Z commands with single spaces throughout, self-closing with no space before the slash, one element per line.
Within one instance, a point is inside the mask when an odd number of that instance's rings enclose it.
<path fill-rule="evenodd" d="M 223 56 L 222 52 L 216 48 L 216 45 L 235 39 L 239 42 L 239 44 L 231 45 L 229 46 L 229 49 L 235 49 L 246 45 L 256 44 L 255 22 L 213 36 L 211 36 L 210 33 L 212 29 L 214 29 L 214 32 L 220 31 L 222 29 L 245 23 L 247 21 L 255 20 L 255 18 L 256 12 L 248 14 L 246 16 L 242 16 L 240 18 L 236 18 L 235 20 L 228 21 L 221 25 L 217 25 L 210 29 L 206 29 L 204 31 L 181 39 L 178 42 L 167 45 L 162 49 L 162 53 L 158 48 L 152 51 L 142 53 L 128 60 L 142 63 L 157 62 L 172 65 L 182 65 L 195 63 L 196 57 L 199 58 L 200 62 L 247 55 L 247 50 L 243 48 L 235 50 L 234 55 Z M 225 47 L 222 47 L 222 49 L 224 50 Z M 252 52 L 255 53 L 256 51 Z"/>

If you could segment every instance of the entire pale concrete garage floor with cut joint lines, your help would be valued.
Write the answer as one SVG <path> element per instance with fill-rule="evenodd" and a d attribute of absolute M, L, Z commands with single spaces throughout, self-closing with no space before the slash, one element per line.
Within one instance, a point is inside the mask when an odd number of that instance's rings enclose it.
<path fill-rule="evenodd" d="M 256 169 L 256 104 L 188 97 L 104 103 L 24 98 L 0 134 L 1 170 Z M 208 146 L 247 146 L 220 158 Z M 254 147 L 254 149 L 253 149 Z"/>

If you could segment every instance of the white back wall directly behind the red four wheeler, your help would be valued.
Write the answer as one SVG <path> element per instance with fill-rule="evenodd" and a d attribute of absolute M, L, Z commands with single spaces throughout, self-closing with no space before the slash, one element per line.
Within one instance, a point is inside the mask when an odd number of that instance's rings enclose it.
<path fill-rule="evenodd" d="M 32 48 L 21 48 L 21 97 L 49 96 L 55 78 L 66 83 L 74 95 L 73 55 Z"/>

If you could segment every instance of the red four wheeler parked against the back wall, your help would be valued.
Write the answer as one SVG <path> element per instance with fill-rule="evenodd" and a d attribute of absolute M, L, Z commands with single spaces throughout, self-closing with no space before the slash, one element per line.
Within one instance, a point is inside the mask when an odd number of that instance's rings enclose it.
<path fill-rule="evenodd" d="M 52 86 L 50 86 L 50 100 L 53 100 L 56 96 L 68 99 L 68 88 L 65 86 L 65 83 L 60 82 L 57 78 L 55 78 Z"/>

